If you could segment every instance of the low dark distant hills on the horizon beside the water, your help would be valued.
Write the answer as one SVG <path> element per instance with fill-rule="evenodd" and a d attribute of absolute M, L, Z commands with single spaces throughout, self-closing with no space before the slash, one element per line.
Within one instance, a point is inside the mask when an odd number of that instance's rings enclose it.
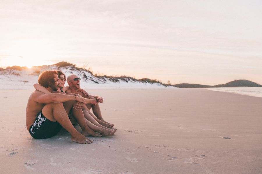
<path fill-rule="evenodd" d="M 256 84 L 249 80 L 234 80 L 230 81 L 226 84 L 220 84 L 220 85 L 200 85 L 200 84 L 175 84 L 172 85 L 178 88 L 218 88 L 218 87 L 262 87 L 260 84 Z"/>

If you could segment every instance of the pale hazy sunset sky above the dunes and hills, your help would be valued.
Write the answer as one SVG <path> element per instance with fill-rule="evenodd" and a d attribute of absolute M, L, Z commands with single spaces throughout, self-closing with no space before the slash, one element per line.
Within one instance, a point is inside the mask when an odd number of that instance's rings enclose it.
<path fill-rule="evenodd" d="M 0 67 L 262 84 L 262 1 L 0 0 Z"/>

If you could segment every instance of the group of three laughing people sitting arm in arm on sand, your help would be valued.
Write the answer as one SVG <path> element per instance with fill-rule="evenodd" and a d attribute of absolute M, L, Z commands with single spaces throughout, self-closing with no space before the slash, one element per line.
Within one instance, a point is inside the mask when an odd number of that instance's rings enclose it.
<path fill-rule="evenodd" d="M 76 75 L 68 77 L 69 87 L 64 87 L 65 80 L 61 71 L 44 71 L 39 76 L 39 84 L 34 85 L 36 90 L 31 93 L 26 107 L 26 127 L 31 136 L 49 138 L 63 127 L 71 134 L 73 142 L 88 144 L 92 141 L 85 136 L 113 135 L 116 129 L 105 122 L 98 105 L 103 102 L 102 97 L 88 95 L 80 89 L 80 78 Z M 82 128 L 81 134 L 73 126 L 75 123 Z"/>

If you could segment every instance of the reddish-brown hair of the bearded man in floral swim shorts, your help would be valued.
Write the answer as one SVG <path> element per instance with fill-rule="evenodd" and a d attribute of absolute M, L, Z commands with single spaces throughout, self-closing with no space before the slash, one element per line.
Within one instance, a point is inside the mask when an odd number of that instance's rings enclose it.
<path fill-rule="evenodd" d="M 38 83 L 45 88 L 54 84 L 54 74 L 58 75 L 57 71 L 43 71 L 38 78 Z"/>

